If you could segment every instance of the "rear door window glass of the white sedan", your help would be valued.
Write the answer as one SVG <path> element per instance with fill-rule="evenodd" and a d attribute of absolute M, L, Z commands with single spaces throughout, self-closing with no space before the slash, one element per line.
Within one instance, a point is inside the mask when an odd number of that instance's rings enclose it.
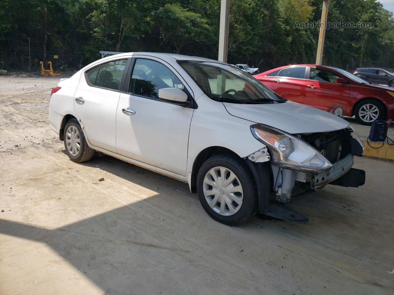
<path fill-rule="evenodd" d="M 87 79 L 92 86 L 119 90 L 126 63 L 127 59 L 103 63 L 87 71 Z"/>

